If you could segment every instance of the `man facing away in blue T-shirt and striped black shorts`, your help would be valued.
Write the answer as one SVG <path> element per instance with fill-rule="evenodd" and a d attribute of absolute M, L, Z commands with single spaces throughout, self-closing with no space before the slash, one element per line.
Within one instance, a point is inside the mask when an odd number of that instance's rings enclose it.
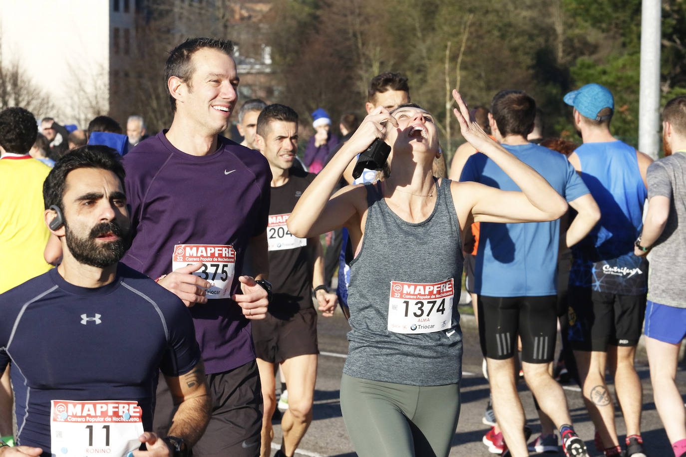
<path fill-rule="evenodd" d="M 545 177 L 578 211 L 567 230 L 566 243 L 571 246 L 591 230 L 600 219 L 600 211 L 565 156 L 526 140 L 535 115 L 536 103 L 529 95 L 504 90 L 493 98 L 488 116 L 491 132 L 499 143 Z M 519 191 L 504 171 L 482 153 L 467 160 L 460 180 Z M 525 380 L 541 410 L 559 428 L 566 454 L 588 455 L 583 441 L 571 428 L 565 394 L 548 371 L 557 332 L 559 232 L 559 220 L 481 224 L 474 272 L 480 340 L 488 364 L 495 417 L 507 448 L 516 455 L 528 455 L 524 412 L 514 378 L 518 335 Z"/>

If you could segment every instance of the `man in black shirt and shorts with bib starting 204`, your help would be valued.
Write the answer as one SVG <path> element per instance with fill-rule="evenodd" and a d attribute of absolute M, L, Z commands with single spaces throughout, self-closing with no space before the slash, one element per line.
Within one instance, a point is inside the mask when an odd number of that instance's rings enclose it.
<path fill-rule="evenodd" d="M 336 295 L 324 286 L 324 257 L 318 236 L 297 238 L 286 221 L 314 173 L 293 167 L 298 148 L 298 114 L 292 108 L 267 106 L 257 119 L 255 146 L 272 170 L 267 228 L 270 280 L 274 296 L 265 319 L 252 325 L 257 367 L 262 384 L 264 415 L 261 456 L 271 450 L 272 415 L 276 408 L 276 364 L 289 386 L 289 408 L 283 415 L 283 443 L 276 456 L 292 456 L 312 420 L 317 373 L 317 311 L 312 286 L 324 316 L 333 315 Z"/>

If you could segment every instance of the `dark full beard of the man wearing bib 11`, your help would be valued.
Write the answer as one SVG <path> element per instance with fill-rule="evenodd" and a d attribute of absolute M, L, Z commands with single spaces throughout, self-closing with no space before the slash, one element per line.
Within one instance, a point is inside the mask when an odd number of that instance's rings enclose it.
<path fill-rule="evenodd" d="M 67 247 L 71 255 L 80 263 L 91 267 L 105 268 L 121 260 L 126 253 L 124 238 L 128 231 L 123 230 L 118 223 L 103 222 L 95 225 L 86 238 L 80 238 L 64 224 Z M 112 232 L 119 236 L 118 240 L 99 243 L 96 238 L 102 234 Z"/>

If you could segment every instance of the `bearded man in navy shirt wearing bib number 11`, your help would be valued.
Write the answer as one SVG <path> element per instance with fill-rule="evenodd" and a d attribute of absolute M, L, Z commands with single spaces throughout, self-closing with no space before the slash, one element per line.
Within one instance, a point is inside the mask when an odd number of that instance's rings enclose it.
<path fill-rule="evenodd" d="M 188 456 L 210 415 L 202 356 L 181 300 L 119 262 L 130 230 L 119 155 L 69 153 L 43 199 L 63 257 L 0 295 L 0 369 L 10 365 L 19 445 L 0 441 L 0 455 Z M 159 370 L 177 406 L 164 437 L 145 431 Z"/>

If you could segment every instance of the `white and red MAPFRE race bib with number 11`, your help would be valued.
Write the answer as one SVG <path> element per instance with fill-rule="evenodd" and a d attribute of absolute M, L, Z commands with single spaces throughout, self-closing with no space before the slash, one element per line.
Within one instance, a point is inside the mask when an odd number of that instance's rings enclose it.
<path fill-rule="evenodd" d="M 136 451 L 143 433 L 138 402 L 50 402 L 50 439 L 54 456 L 126 456 Z"/>

